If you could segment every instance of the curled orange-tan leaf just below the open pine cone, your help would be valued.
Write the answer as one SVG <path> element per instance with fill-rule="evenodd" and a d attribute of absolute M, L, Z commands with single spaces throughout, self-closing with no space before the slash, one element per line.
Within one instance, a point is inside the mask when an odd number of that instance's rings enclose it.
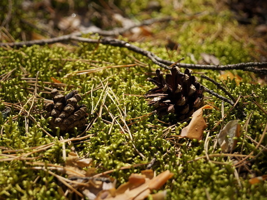
<path fill-rule="evenodd" d="M 212 109 L 210 105 L 204 105 L 192 115 L 192 119 L 188 126 L 184 127 L 181 132 L 182 137 L 188 137 L 189 139 L 202 139 L 203 130 L 207 128 L 205 119 L 203 118 L 203 109 Z"/>

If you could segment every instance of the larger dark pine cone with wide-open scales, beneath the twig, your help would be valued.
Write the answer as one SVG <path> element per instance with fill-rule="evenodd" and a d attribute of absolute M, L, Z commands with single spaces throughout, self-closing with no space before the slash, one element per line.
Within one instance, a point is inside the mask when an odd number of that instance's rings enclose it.
<path fill-rule="evenodd" d="M 178 121 L 183 121 L 199 109 L 203 104 L 203 86 L 197 81 L 197 77 L 191 75 L 190 69 L 184 73 L 180 68 L 171 68 L 171 74 L 163 77 L 163 72 L 156 70 L 157 77 L 148 81 L 157 85 L 145 94 L 145 98 L 152 98 L 149 101 L 159 115 L 162 117 L 168 113 L 175 113 Z"/>

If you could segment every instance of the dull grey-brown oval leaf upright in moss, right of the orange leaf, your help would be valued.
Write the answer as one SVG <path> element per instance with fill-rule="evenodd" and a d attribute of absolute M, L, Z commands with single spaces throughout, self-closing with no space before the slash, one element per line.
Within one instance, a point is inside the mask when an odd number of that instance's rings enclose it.
<path fill-rule="evenodd" d="M 217 140 L 222 152 L 227 153 L 234 150 L 237 140 L 234 137 L 240 136 L 240 125 L 238 120 L 229 121 L 225 127 L 220 130 Z"/>

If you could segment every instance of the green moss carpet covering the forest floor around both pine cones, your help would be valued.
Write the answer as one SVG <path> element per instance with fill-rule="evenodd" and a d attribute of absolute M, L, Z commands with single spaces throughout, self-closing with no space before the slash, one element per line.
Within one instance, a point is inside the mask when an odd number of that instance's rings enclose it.
<path fill-rule="evenodd" d="M 178 13 L 168 13 L 171 5 L 161 3 L 163 8 L 159 15 L 179 16 Z M 229 10 L 217 11 L 213 8 L 214 5 L 214 0 L 185 4 L 189 13 L 207 10 L 216 14 L 200 15 L 189 20 L 188 14 L 181 12 L 179 22 L 167 23 L 164 32 L 179 42 L 179 51 L 165 48 L 166 40 L 162 36 L 161 24 L 153 25 L 153 36 L 157 41 L 162 41 L 162 44 L 147 37 L 145 41 L 135 42 L 134 45 L 167 60 L 176 61 L 185 57 L 182 61 L 184 63 L 194 63 L 191 54 L 199 60 L 201 52 L 215 55 L 223 65 L 256 61 L 260 55 L 257 54 L 253 40 L 246 40 L 245 36 L 239 35 L 240 40 L 237 41 L 233 36 L 239 34 L 237 29 L 247 30 L 247 34 L 250 34 L 254 25 L 240 26 Z M 134 5 L 131 6 L 134 15 L 140 13 Z M 150 15 L 153 17 L 156 13 Z M 138 17 L 142 19 L 144 16 Z M 216 33 L 218 24 L 223 29 L 219 36 L 212 36 Z M 120 39 L 127 40 L 123 37 Z M 78 74 L 78 71 L 99 67 L 107 68 Z M 256 148 L 267 123 L 267 115 L 262 110 L 267 110 L 266 85 L 258 83 L 260 78 L 257 75 L 242 70 L 231 71 L 234 76 L 242 78 L 239 84 L 235 79 L 221 81 L 219 71 L 194 70 L 205 73 L 217 82 L 224 82 L 235 98 L 240 97 L 239 106 L 243 107 L 247 117 L 242 117 L 231 105 L 224 103 L 224 124 L 239 119 L 242 133 L 233 153 L 249 155 L 253 151 L 256 157 L 249 158 L 248 164 L 235 168 L 234 163 L 242 158 L 224 156 L 219 145 L 215 144 L 222 127 L 222 100 L 205 93 L 208 97 L 205 103 L 212 104 L 217 109 L 204 112 L 208 128 L 200 141 L 175 139 L 173 135 L 179 135 L 187 123 L 178 123 L 174 128 L 169 128 L 175 118 L 171 114 L 160 120 L 157 115 L 145 116 L 153 111 L 143 95 L 154 87 L 147 78 L 153 76 L 151 73 L 156 68 L 159 67 L 147 57 L 109 45 L 77 43 L 0 48 L 0 199 L 66 199 L 58 179 L 48 171 L 36 168 L 41 166 L 38 163 L 43 163 L 44 167 L 47 164 L 64 165 L 64 148 L 67 153 L 75 148 L 80 157 L 92 158 L 93 164 L 86 170 L 95 168 L 100 173 L 115 169 L 110 176 L 117 179 L 117 185 L 127 182 L 131 173 L 140 173 L 146 168 L 146 165 L 134 167 L 135 164 L 148 164 L 155 158 L 152 169 L 157 174 L 167 169 L 174 173 L 172 179 L 161 188 L 167 190 L 167 199 L 267 198 L 266 181 L 249 183 L 250 178 L 265 175 L 267 171 L 267 137 Z M 38 79 L 35 83 L 37 72 Z M 200 77 L 200 74 L 195 75 Z M 63 83 L 62 86 L 54 84 L 53 78 Z M 225 96 L 213 83 L 204 79 L 200 79 L 200 83 Z M 36 84 L 39 86 L 33 101 Z M 65 91 L 65 94 L 72 89 L 83 94 L 82 103 L 87 107 L 88 123 L 91 124 L 84 134 L 90 136 L 85 140 L 63 143 L 59 135 L 51 133 L 52 136 L 49 136 L 44 133 L 43 130 L 49 133 L 50 130 L 43 117 L 43 104 L 45 99 L 50 100 L 48 93 L 53 87 Z M 20 113 L 17 106 L 30 113 Z M 11 108 L 8 115 L 3 112 L 6 107 Z M 117 117 L 117 121 L 112 116 Z M 120 126 L 124 127 L 124 133 Z M 68 133 L 63 135 L 65 139 L 75 136 L 77 135 Z M 50 148 L 44 148 L 50 143 L 53 143 Z M 25 156 L 27 153 L 29 155 Z M 209 161 L 206 157 L 198 159 L 206 154 L 217 155 L 211 156 Z M 124 166 L 133 167 L 121 170 Z"/>

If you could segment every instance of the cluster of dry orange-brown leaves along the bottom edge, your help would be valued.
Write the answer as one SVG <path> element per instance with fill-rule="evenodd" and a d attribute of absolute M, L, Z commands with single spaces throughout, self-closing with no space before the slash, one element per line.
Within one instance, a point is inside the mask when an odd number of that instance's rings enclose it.
<path fill-rule="evenodd" d="M 91 158 L 81 159 L 76 153 L 69 152 L 66 166 L 63 170 L 59 170 L 67 175 L 67 179 L 51 171 L 49 173 L 64 183 L 70 192 L 75 192 L 79 196 L 83 194 L 89 200 L 144 200 L 151 192 L 160 189 L 174 175 L 166 170 L 154 177 L 154 171 L 147 169 L 141 171 L 141 174 L 132 173 L 128 182 L 121 184 L 116 189 L 116 179 L 104 173 L 96 176 L 94 167 L 85 170 L 84 167 L 91 166 L 91 162 Z M 161 191 L 153 194 L 152 198 L 164 200 L 166 194 L 166 191 Z"/>

